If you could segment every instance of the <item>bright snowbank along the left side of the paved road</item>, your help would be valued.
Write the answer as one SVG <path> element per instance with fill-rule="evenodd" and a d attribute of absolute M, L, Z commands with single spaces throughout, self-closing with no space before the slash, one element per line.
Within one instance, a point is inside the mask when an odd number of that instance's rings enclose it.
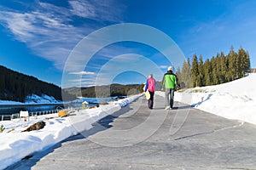
<path fill-rule="evenodd" d="M 90 129 L 92 123 L 119 111 L 121 107 L 128 105 L 140 96 L 142 94 L 119 99 L 109 105 L 100 105 L 95 109 L 75 111 L 72 113 L 73 116 L 58 118 L 57 114 L 51 114 L 30 117 L 27 122 L 22 119 L 0 122 L 0 126 L 3 124 L 5 127 L 3 133 L 0 133 L 0 169 L 20 161 L 36 151 L 45 150 L 63 139 Z M 46 123 L 43 129 L 21 133 L 28 126 L 39 121 Z"/>

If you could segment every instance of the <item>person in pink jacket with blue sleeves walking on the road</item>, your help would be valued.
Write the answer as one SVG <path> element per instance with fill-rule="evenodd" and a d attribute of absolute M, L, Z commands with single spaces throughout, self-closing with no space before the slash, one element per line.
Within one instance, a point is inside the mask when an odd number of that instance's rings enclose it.
<path fill-rule="evenodd" d="M 148 108 L 153 109 L 154 104 L 154 91 L 155 88 L 160 88 L 160 86 L 156 83 L 156 81 L 153 78 L 153 74 L 149 74 L 148 80 L 145 87 L 145 92 L 148 90 L 150 94 L 150 99 L 148 99 Z"/>

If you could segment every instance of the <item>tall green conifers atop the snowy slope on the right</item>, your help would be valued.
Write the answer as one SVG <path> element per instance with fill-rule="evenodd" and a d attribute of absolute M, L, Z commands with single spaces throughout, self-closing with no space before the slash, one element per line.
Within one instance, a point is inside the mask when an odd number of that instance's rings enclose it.
<path fill-rule="evenodd" d="M 237 52 L 231 46 L 230 53 L 224 55 L 223 52 L 203 61 L 193 55 L 192 63 L 190 59 L 184 60 L 182 70 L 177 68 L 177 77 L 181 82 L 181 88 L 195 88 L 230 82 L 241 77 L 245 77 L 250 70 L 250 56 L 243 48 Z"/>

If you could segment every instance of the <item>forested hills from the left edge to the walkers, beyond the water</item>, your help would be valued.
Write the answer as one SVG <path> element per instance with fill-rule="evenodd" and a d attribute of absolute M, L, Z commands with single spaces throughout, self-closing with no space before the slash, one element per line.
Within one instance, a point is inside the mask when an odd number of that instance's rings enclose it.
<path fill-rule="evenodd" d="M 138 94 L 143 92 L 143 84 L 120 85 L 111 84 L 102 87 L 61 89 L 55 84 L 43 82 L 36 77 L 26 76 L 20 72 L 12 71 L 0 65 L 0 99 L 24 102 L 31 94 L 47 94 L 57 100 L 77 99 L 76 96 L 82 92 L 83 97 L 109 97 L 125 96 L 127 94 Z M 96 96 L 97 92 L 97 96 Z M 65 98 L 62 98 L 65 96 Z"/>

